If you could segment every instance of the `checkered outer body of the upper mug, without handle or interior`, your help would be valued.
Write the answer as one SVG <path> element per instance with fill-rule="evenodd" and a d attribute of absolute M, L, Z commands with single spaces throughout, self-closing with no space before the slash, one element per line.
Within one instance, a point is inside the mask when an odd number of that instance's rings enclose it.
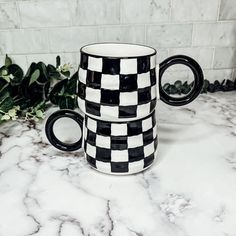
<path fill-rule="evenodd" d="M 143 118 L 156 105 L 155 55 L 128 59 L 81 54 L 78 105 L 105 120 Z"/>

